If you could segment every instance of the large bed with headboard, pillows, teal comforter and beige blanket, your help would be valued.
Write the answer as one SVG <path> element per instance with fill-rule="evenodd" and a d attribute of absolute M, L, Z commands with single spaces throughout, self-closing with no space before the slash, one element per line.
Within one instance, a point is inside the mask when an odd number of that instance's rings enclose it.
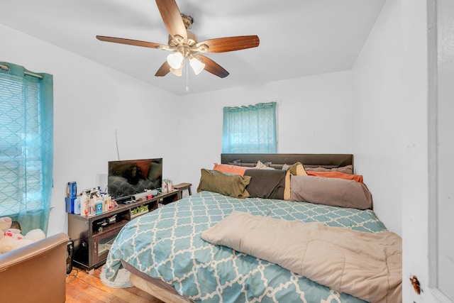
<path fill-rule="evenodd" d="M 216 165 L 242 168 L 228 172 Z M 299 165 L 306 175 L 299 175 Z M 311 172 L 322 175 L 307 175 Z M 328 177 L 333 172 L 350 179 Z M 402 240 L 375 216 L 362 176 L 361 182 L 352 180 L 359 176 L 353 172 L 353 155 L 348 154 L 222 154 L 213 170 L 201 169 L 196 194 L 123 227 L 109 250 L 106 278 L 114 280 L 126 268 L 132 285 L 165 302 L 398 302 Z M 238 180 L 249 180 L 244 190 Z M 301 198 L 292 192 L 299 186 L 293 180 L 331 180 L 322 184 L 330 195 L 309 189 L 306 196 L 306 189 Z M 350 202 L 345 198 L 350 190 L 338 194 L 332 182 L 359 187 L 354 198 L 359 194 L 364 201 Z M 234 189 L 226 186 L 230 183 Z M 243 192 L 232 192 L 238 187 Z M 246 217 L 250 221 L 228 221 Z M 256 221 L 262 225 L 254 225 Z M 352 244 L 338 248 L 345 243 Z"/>

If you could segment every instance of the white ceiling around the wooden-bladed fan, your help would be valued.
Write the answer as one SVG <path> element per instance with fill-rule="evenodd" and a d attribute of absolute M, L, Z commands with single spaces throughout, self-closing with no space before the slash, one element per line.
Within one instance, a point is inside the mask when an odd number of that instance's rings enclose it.
<path fill-rule="evenodd" d="M 155 0 L 0 0 L 0 23 L 175 94 L 350 70 L 386 0 L 176 0 L 199 41 L 258 35 L 258 48 L 206 56 L 230 75 L 155 77 L 168 51 L 96 35 L 167 44 Z M 186 92 L 188 84 L 189 92 Z"/>

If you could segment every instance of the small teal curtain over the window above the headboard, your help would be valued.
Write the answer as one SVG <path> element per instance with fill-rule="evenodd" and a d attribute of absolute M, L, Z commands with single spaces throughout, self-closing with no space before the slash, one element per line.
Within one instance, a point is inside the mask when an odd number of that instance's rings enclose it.
<path fill-rule="evenodd" d="M 276 102 L 223 108 L 223 153 L 277 153 Z"/>

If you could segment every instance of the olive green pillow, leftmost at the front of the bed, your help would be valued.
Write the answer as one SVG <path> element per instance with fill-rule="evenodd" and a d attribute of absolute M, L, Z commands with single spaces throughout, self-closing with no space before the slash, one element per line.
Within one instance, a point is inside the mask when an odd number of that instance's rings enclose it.
<path fill-rule="evenodd" d="M 237 174 L 202 168 L 197 192 L 205 190 L 238 199 L 249 198 L 250 194 L 246 190 L 246 186 L 248 186 L 250 178 L 249 176 L 242 177 Z"/>

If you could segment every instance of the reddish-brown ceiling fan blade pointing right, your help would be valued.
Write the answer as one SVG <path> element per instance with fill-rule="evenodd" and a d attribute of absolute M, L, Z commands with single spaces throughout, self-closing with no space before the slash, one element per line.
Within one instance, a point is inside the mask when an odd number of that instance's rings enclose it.
<path fill-rule="evenodd" d="M 206 53 L 225 53 L 233 50 L 258 47 L 258 35 L 238 35 L 236 37 L 214 38 L 197 43 L 196 46 L 208 45 Z"/>

